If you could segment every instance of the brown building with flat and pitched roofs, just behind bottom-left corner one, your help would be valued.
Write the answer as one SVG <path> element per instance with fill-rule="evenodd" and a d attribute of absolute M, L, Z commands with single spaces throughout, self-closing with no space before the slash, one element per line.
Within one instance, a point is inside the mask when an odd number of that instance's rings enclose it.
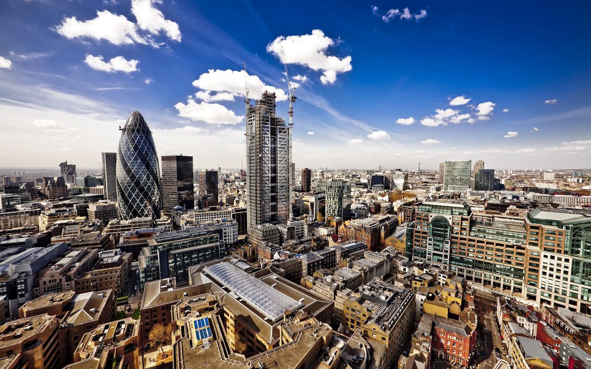
<path fill-rule="evenodd" d="M 74 293 L 62 292 L 28 301 L 19 309 L 20 318 L 40 314 L 56 316 L 59 322 L 60 367 L 72 363 L 74 351 L 83 335 L 115 318 L 116 302 L 113 290 Z"/>

